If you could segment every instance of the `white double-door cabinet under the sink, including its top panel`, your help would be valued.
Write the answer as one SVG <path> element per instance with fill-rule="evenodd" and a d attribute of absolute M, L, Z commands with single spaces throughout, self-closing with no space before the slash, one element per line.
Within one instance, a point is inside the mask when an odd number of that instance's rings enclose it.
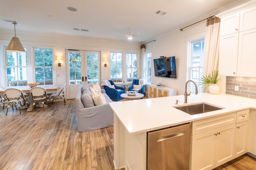
<path fill-rule="evenodd" d="M 211 170 L 234 158 L 236 113 L 192 122 L 191 170 Z"/>

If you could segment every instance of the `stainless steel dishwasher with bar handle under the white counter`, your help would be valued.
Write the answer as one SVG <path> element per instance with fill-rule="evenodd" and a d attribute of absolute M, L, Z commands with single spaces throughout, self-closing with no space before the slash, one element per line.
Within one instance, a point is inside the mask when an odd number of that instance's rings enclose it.
<path fill-rule="evenodd" d="M 191 124 L 148 132 L 147 170 L 189 170 Z"/>

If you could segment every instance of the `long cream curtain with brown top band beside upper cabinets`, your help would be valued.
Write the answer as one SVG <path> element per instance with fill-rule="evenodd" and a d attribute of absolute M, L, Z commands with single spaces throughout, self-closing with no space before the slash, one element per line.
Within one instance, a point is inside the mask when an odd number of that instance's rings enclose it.
<path fill-rule="evenodd" d="M 204 75 L 218 70 L 220 18 L 207 19 L 204 39 Z"/>

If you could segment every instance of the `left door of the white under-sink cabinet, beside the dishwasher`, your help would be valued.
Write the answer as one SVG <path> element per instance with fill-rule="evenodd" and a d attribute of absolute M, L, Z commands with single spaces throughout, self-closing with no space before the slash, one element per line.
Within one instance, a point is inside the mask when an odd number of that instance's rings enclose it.
<path fill-rule="evenodd" d="M 192 135 L 190 170 L 211 170 L 215 168 L 216 130 Z"/>

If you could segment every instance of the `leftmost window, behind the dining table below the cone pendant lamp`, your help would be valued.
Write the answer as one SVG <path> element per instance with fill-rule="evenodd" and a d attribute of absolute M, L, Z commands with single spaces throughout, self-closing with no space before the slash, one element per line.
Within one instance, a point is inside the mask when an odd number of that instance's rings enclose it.
<path fill-rule="evenodd" d="M 8 86 L 26 86 L 28 83 L 27 53 L 6 51 L 6 57 Z"/>

